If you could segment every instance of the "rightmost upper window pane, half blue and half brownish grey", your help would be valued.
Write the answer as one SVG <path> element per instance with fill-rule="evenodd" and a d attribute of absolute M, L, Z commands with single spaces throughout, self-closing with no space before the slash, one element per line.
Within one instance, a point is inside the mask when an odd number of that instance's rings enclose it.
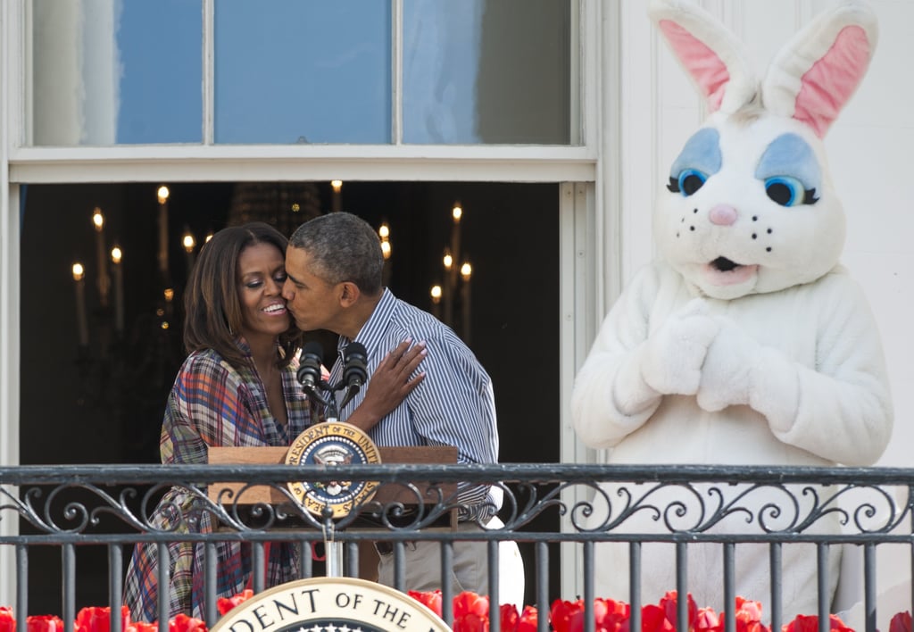
<path fill-rule="evenodd" d="M 403 8 L 405 142 L 569 144 L 568 1 Z"/>

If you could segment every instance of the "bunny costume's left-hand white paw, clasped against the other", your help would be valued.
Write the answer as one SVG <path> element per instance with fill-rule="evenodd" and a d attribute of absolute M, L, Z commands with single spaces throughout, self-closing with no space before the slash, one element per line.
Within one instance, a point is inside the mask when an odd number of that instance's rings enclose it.
<path fill-rule="evenodd" d="M 707 348 L 717 336 L 717 320 L 703 299 L 690 301 L 647 339 L 643 380 L 664 395 L 694 395 L 701 382 Z"/>

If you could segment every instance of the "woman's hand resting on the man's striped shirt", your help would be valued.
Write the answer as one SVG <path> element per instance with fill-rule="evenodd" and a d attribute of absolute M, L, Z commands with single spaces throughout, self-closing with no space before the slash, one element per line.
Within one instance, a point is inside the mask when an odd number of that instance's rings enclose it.
<path fill-rule="evenodd" d="M 425 354 L 425 343 L 413 345 L 409 338 L 390 351 L 368 380 L 365 400 L 349 415 L 346 423 L 352 423 L 359 429 L 368 431 L 374 428 L 384 415 L 397 408 L 400 402 L 419 386 L 420 381 L 425 379 L 424 372 L 412 377 L 413 372 L 425 359 Z"/>

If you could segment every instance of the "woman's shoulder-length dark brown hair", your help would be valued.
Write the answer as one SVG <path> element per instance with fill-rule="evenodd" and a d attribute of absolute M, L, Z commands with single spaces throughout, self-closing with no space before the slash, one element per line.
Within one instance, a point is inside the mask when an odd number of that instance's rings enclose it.
<path fill-rule="evenodd" d="M 258 243 L 276 246 L 285 258 L 288 240 L 279 230 L 261 221 L 229 226 L 203 244 L 184 292 L 184 346 L 187 353 L 212 348 L 234 366 L 244 361 L 235 344 L 242 321 L 238 261 L 241 252 Z M 289 329 L 280 336 L 282 352 L 278 366 L 289 364 L 301 342 L 302 332 L 292 321 Z"/>

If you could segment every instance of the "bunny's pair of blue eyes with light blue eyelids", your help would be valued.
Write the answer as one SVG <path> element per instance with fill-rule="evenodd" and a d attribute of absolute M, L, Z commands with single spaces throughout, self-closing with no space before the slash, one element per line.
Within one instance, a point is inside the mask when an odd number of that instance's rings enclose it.
<path fill-rule="evenodd" d="M 706 127 L 685 142 L 670 169 L 666 186 L 688 198 L 703 187 L 708 177 L 720 170 L 720 134 Z M 822 174 L 812 147 L 797 134 L 781 134 L 761 156 L 755 177 L 764 183 L 765 193 L 782 207 L 815 204 L 815 192 Z"/>

